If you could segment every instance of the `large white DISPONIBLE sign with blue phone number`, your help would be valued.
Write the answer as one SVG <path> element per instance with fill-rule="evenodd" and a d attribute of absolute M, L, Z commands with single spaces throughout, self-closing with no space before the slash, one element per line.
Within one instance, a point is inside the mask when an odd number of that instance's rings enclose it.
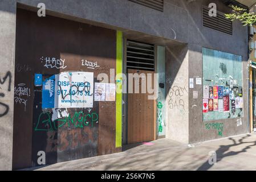
<path fill-rule="evenodd" d="M 55 76 L 55 108 L 93 107 L 94 73 L 64 72 Z"/>

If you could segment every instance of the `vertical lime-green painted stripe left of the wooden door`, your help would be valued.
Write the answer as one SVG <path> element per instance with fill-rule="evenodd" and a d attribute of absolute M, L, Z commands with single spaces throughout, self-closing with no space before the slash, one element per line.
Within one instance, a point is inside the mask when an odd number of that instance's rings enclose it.
<path fill-rule="evenodd" d="M 123 70 L 123 32 L 116 32 L 116 75 Z M 122 80 L 121 75 L 117 80 Z M 117 81 L 117 88 L 122 88 L 122 82 Z M 116 147 L 122 146 L 122 93 L 116 93 Z"/>

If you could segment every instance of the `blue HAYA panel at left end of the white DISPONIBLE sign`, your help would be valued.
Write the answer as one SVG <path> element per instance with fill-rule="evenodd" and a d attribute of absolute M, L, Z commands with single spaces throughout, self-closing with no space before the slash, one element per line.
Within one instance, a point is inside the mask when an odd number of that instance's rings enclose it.
<path fill-rule="evenodd" d="M 43 81 L 42 108 L 54 108 L 55 101 L 55 75 Z"/>

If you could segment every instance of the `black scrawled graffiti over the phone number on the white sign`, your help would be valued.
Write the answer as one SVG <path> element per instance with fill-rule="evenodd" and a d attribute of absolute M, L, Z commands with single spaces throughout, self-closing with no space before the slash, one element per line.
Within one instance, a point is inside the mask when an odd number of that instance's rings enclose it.
<path fill-rule="evenodd" d="M 82 89 L 81 89 L 82 88 Z M 64 100 L 67 96 L 75 96 L 79 94 L 86 93 L 86 96 L 92 96 L 91 93 L 91 84 L 90 82 L 86 81 L 83 84 L 80 85 L 71 85 L 70 90 L 67 92 L 67 94 L 63 94 L 62 87 L 59 85 L 60 94 L 62 95 L 62 99 Z"/>

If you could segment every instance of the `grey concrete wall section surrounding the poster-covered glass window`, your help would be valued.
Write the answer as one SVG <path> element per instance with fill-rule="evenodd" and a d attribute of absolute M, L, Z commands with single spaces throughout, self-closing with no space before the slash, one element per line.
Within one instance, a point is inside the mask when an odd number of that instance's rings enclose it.
<path fill-rule="evenodd" d="M 216 49 L 242 56 L 243 65 L 243 117 L 242 126 L 237 126 L 237 118 L 221 119 L 216 121 L 202 121 L 202 85 L 196 85 L 189 89 L 189 143 L 201 142 L 210 139 L 221 138 L 218 133 L 205 129 L 206 123 L 224 123 L 224 137 L 247 133 L 249 121 L 247 119 L 247 27 L 240 22 L 233 23 L 233 35 L 224 34 L 202 26 L 201 5 L 208 6 L 210 1 L 196 1 L 188 6 L 188 37 L 189 37 L 189 77 L 201 77 L 202 72 L 202 47 Z M 229 13 L 229 7 L 217 3 L 217 10 Z M 198 30 L 198 31 L 197 31 Z M 198 91 L 198 99 L 193 99 L 193 91 Z"/>

